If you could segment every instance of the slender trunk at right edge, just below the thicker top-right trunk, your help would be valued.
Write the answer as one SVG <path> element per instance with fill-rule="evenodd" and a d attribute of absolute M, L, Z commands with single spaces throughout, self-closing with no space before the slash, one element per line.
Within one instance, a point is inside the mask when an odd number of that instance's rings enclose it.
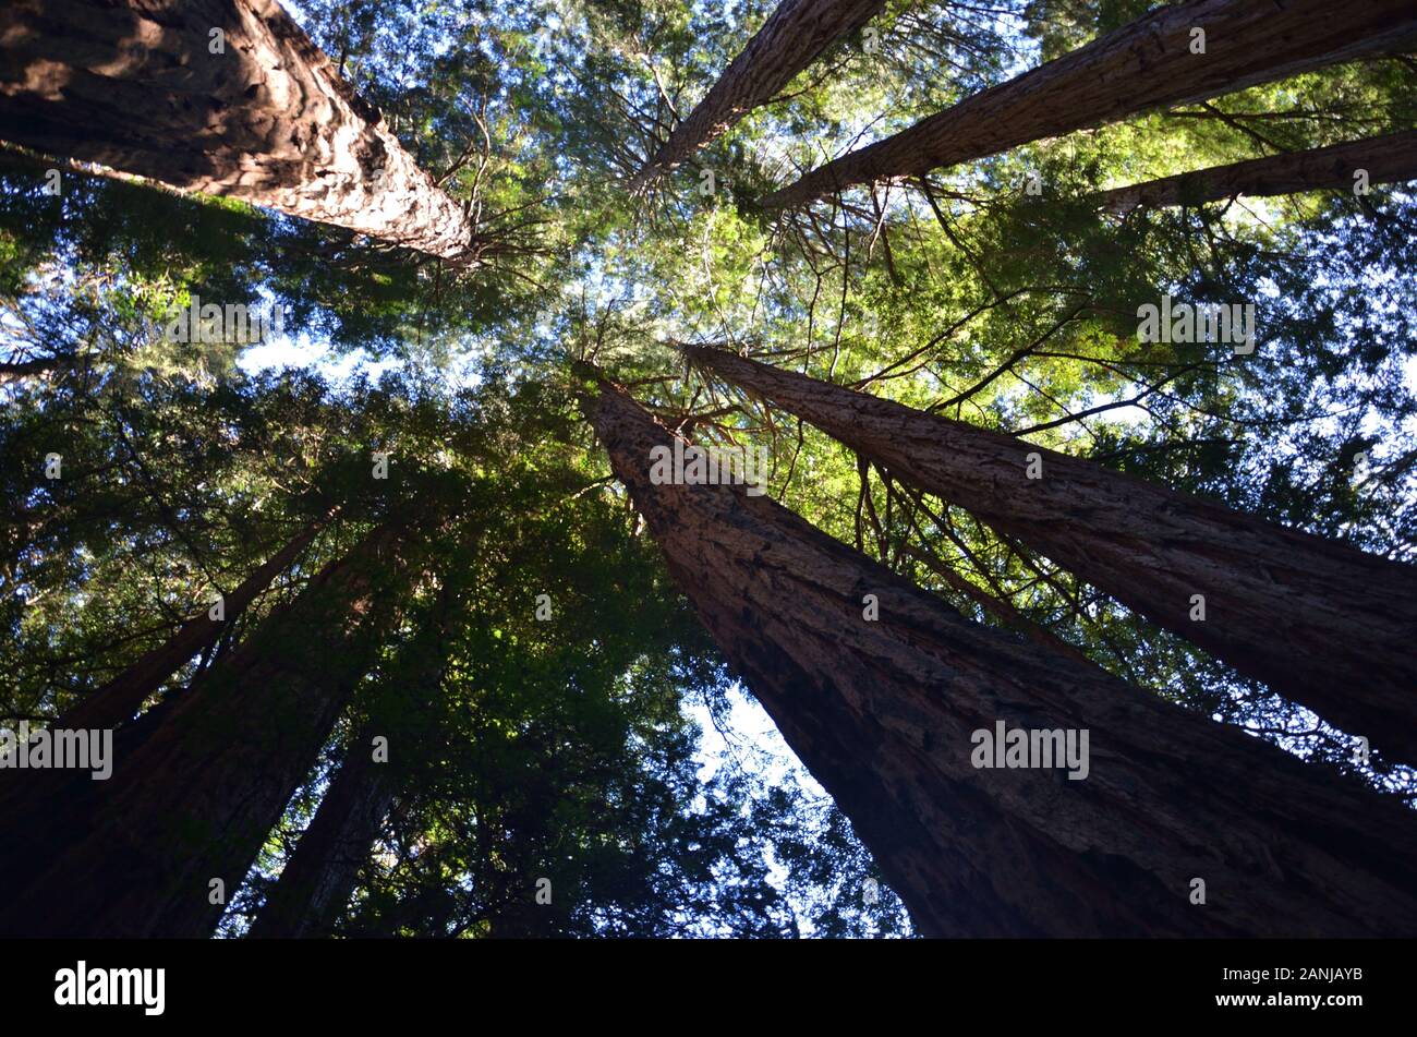
<path fill-rule="evenodd" d="M 1100 200 L 1104 208 L 1121 214 L 1138 205 L 1199 205 L 1240 194 L 1267 197 L 1323 188 L 1352 191 L 1357 170 L 1367 173 L 1369 184 L 1417 178 L 1417 130 L 1180 173 L 1104 191 Z"/>

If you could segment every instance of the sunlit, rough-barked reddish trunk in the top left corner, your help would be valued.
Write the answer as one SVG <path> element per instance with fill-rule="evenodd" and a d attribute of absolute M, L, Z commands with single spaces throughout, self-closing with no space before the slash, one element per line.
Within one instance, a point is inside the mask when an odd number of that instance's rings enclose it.
<path fill-rule="evenodd" d="M 276 0 L 10 0 L 0 139 L 455 264 L 465 208 Z"/>

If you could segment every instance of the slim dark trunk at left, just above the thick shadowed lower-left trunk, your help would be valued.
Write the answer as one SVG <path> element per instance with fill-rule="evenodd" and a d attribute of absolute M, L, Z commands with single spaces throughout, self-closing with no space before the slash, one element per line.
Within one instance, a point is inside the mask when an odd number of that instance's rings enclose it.
<path fill-rule="evenodd" d="M 146 653 L 113 680 L 89 694 L 84 701 L 60 717 L 54 728 L 103 728 L 119 727 L 133 718 L 167 677 L 176 673 L 197 653 L 205 652 L 217 638 L 265 591 L 271 581 L 285 572 L 309 547 L 327 518 L 313 521 L 300 530 L 290 543 L 273 554 L 269 561 L 241 581 L 237 588 L 222 596 L 224 619 L 210 618 L 210 611 L 193 616 L 166 642 Z"/>

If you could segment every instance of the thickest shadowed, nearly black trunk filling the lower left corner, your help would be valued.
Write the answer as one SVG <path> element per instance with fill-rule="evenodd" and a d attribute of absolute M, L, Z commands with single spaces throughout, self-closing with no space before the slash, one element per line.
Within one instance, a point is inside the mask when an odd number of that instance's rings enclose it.
<path fill-rule="evenodd" d="M 164 715 L 129 725 L 106 782 L 31 803 L 0 857 L 0 935 L 207 936 L 394 619 L 397 524 L 268 616 Z"/>

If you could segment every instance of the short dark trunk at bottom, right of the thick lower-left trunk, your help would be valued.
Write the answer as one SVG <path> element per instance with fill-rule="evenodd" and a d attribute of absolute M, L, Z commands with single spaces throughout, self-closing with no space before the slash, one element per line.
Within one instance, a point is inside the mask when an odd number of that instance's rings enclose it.
<path fill-rule="evenodd" d="M 330 934 L 394 800 L 388 766 L 374 762 L 368 738 L 354 740 L 249 936 L 300 939 Z"/>

